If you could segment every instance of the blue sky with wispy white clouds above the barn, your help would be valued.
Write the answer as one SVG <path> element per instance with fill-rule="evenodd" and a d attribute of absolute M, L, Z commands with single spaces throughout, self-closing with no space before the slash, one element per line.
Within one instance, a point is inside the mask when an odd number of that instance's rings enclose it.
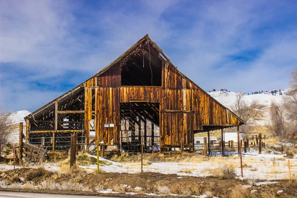
<path fill-rule="evenodd" d="M 0 105 L 34 111 L 145 34 L 205 91 L 286 89 L 297 1 L 1 0 Z"/>

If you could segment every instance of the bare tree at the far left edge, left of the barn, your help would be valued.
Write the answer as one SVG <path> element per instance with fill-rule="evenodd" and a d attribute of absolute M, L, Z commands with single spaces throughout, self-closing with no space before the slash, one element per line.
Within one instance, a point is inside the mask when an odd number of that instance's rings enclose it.
<path fill-rule="evenodd" d="M 10 122 L 9 114 L 5 114 L 0 108 L 0 152 L 2 151 L 1 145 L 6 144 Z"/>

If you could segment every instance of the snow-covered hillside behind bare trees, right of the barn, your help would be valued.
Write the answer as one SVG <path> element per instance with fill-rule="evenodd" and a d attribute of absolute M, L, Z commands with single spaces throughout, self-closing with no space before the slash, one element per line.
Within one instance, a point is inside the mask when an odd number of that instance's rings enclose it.
<path fill-rule="evenodd" d="M 223 104 L 224 106 L 231 109 L 231 106 L 236 101 L 236 96 L 238 92 L 225 92 L 225 91 L 213 91 L 208 92 L 210 96 L 216 99 L 218 102 Z M 281 103 L 284 97 L 287 95 L 287 90 L 271 90 L 266 92 L 259 92 L 259 94 L 252 95 L 244 95 L 243 99 L 250 104 L 252 101 L 257 101 L 260 104 L 266 106 L 264 117 L 262 121 L 257 122 L 259 125 L 267 125 L 269 124 L 270 116 L 269 116 L 269 107 L 272 101 L 276 103 Z"/>

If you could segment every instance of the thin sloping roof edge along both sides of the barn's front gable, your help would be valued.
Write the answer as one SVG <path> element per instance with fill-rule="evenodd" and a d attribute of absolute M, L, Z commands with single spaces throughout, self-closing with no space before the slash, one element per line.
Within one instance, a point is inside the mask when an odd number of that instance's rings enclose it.
<path fill-rule="evenodd" d="M 119 62 L 120 60 L 122 60 L 123 58 L 125 58 L 126 56 L 128 56 L 134 49 L 136 49 L 141 43 L 143 43 L 144 41 L 150 42 L 150 44 L 159 52 L 160 58 L 167 62 L 179 75 L 181 75 L 184 78 L 189 79 L 187 76 L 185 76 L 183 73 L 181 73 L 176 66 L 174 66 L 174 64 L 170 61 L 170 58 L 148 37 L 148 34 L 145 35 L 143 38 L 141 38 L 138 42 L 136 42 L 133 46 L 131 46 L 129 49 L 127 49 L 124 53 L 122 53 L 120 56 L 118 56 L 115 60 L 113 60 L 111 63 L 109 63 L 107 66 L 105 66 L 103 69 L 101 69 L 98 73 L 96 73 L 94 76 L 92 76 L 91 78 L 89 78 L 88 80 L 94 78 L 95 76 L 100 76 L 101 74 L 103 74 L 105 71 L 107 71 L 109 68 L 111 68 L 112 66 L 114 66 L 117 62 Z M 87 82 L 88 80 L 86 80 L 85 82 Z M 197 86 L 197 88 L 203 92 L 204 94 L 206 94 L 207 97 L 211 98 L 212 100 L 214 100 L 216 103 L 218 103 L 219 105 L 221 105 L 223 108 L 225 108 L 227 111 L 229 111 L 231 114 L 233 114 L 237 120 L 239 121 L 239 124 L 246 124 L 244 120 L 242 120 L 240 117 L 238 117 L 235 113 L 233 113 L 230 109 L 228 109 L 227 107 L 225 107 L 224 105 L 222 105 L 220 102 L 218 102 L 216 99 L 212 98 L 207 92 L 205 92 L 203 89 L 201 89 L 198 85 L 196 85 L 196 83 L 194 83 L 191 79 L 189 79 L 191 83 L 193 83 L 195 86 Z M 36 114 L 42 112 L 43 110 L 45 110 L 46 108 L 48 108 L 49 106 L 51 106 L 52 104 L 55 103 L 55 101 L 60 101 L 61 99 L 64 99 L 66 97 L 69 97 L 73 94 L 75 94 L 78 90 L 80 90 L 82 87 L 84 87 L 84 83 L 79 84 L 78 86 L 76 86 L 75 88 L 73 88 L 72 90 L 66 92 L 65 94 L 61 95 L 60 97 L 53 99 L 52 101 L 50 101 L 48 104 L 42 106 L 41 108 L 37 109 L 36 111 L 32 112 L 31 114 L 29 114 L 28 116 L 26 116 L 24 119 L 28 119 L 31 117 L 34 117 Z"/>

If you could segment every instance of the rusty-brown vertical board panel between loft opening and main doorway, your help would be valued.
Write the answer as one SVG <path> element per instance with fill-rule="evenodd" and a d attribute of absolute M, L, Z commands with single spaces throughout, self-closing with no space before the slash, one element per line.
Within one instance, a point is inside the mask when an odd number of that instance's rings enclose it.
<path fill-rule="evenodd" d="M 160 102 L 161 87 L 125 86 L 120 88 L 120 102 Z"/>

